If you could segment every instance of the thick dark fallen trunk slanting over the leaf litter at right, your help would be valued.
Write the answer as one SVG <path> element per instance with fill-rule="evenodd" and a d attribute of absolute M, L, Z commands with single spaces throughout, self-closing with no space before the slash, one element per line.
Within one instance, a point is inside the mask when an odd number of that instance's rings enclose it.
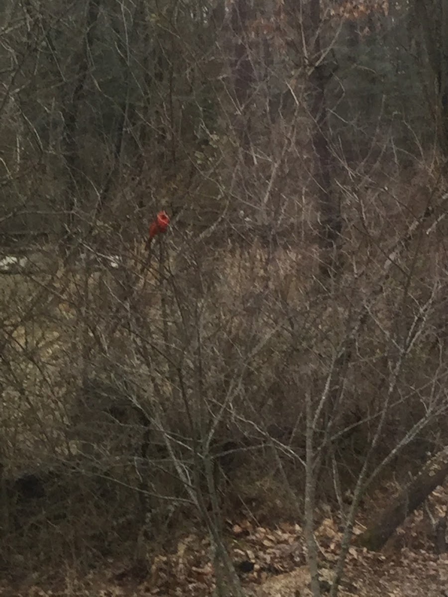
<path fill-rule="evenodd" d="M 414 512 L 448 475 L 448 446 L 425 464 L 419 475 L 392 501 L 370 528 L 357 537 L 357 544 L 379 550 L 395 529 Z"/>

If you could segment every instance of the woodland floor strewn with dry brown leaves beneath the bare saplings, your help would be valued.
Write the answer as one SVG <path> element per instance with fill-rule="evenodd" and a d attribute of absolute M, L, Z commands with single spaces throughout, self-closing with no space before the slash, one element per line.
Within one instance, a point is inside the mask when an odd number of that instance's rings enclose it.
<path fill-rule="evenodd" d="M 376 496 L 376 504 L 383 501 Z M 437 488 L 428 509 L 446 513 L 448 485 Z M 370 505 L 370 507 L 369 507 Z M 372 504 L 366 510 L 372 512 Z M 340 519 L 328 509 L 320 512 L 316 538 L 320 548 L 322 593 L 332 580 L 331 569 L 339 554 Z M 364 528 L 358 519 L 355 534 Z M 305 544 L 300 525 L 279 522 L 272 528 L 245 519 L 226 521 L 228 549 L 247 597 L 308 597 L 309 576 L 305 566 Z M 448 554 L 437 555 L 430 525 L 418 510 L 381 552 L 350 547 L 341 597 L 448 597 Z M 106 562 L 88 576 L 75 574 L 53 578 L 42 574 L 26 582 L 0 583 L 4 597 L 208 597 L 213 595 L 214 575 L 210 545 L 200 534 L 185 536 L 177 551 L 151 558 L 151 570 L 143 571 L 124 562 Z M 250 568 L 252 568 L 250 570 Z"/>

